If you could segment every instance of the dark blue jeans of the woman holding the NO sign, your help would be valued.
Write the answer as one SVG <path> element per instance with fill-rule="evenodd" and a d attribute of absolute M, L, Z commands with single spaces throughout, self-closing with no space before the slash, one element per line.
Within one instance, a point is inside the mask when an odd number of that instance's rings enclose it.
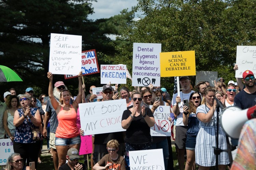
<path fill-rule="evenodd" d="M 169 159 L 169 147 L 167 139 L 157 143 L 152 143 L 151 149 L 163 149 L 163 162 L 165 163 L 165 170 L 167 170 L 168 159 Z"/>

